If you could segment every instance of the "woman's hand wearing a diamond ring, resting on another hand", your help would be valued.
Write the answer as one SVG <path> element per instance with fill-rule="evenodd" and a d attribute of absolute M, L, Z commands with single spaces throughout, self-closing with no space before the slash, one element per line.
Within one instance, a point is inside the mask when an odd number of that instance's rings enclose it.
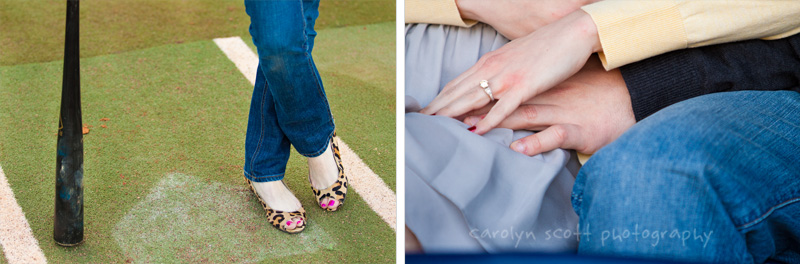
<path fill-rule="evenodd" d="M 566 80 L 600 51 L 597 27 L 589 14 L 577 10 L 489 52 L 445 85 L 423 114 L 455 117 L 479 109 L 490 99 L 480 88 L 488 80 L 497 103 L 474 130 L 484 134 L 506 119 L 522 102 Z"/>

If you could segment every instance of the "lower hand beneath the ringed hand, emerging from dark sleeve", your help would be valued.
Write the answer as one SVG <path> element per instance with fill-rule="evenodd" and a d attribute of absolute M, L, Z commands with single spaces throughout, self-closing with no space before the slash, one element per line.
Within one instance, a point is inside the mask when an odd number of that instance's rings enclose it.
<path fill-rule="evenodd" d="M 488 109 L 470 113 L 473 125 Z M 556 148 L 594 153 L 636 123 L 619 70 L 605 71 L 596 57 L 563 83 L 528 100 L 498 127 L 540 131 L 511 144 L 533 156 Z"/>

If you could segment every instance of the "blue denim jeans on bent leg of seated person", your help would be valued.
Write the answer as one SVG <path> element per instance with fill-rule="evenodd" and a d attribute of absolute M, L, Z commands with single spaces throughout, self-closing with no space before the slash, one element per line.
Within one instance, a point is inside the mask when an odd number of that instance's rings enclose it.
<path fill-rule="evenodd" d="M 800 93 L 667 107 L 585 164 L 572 203 L 582 254 L 800 263 Z"/>

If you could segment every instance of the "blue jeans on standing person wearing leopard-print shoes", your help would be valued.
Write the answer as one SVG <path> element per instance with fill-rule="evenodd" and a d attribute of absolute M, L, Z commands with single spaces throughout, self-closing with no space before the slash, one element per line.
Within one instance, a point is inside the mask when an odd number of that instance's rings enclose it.
<path fill-rule="evenodd" d="M 244 175 L 254 182 L 283 179 L 290 145 L 316 157 L 334 124 L 311 58 L 319 0 L 245 0 L 258 73 L 245 139 Z"/>

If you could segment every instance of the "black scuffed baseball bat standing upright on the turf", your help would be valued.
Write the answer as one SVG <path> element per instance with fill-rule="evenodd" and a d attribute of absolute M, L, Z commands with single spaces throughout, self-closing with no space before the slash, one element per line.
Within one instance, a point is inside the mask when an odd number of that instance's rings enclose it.
<path fill-rule="evenodd" d="M 64 79 L 58 120 L 53 239 L 61 246 L 83 242 L 83 121 L 78 50 L 78 0 L 67 0 Z"/>

